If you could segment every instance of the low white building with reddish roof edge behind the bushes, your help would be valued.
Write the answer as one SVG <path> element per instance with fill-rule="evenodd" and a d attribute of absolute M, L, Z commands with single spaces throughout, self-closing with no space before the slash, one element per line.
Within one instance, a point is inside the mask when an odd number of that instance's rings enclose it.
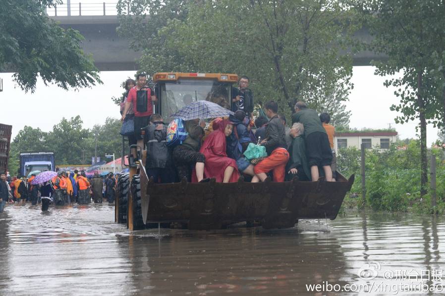
<path fill-rule="evenodd" d="M 365 148 L 374 148 L 376 146 L 381 149 L 389 149 L 389 143 L 395 142 L 397 132 L 383 132 L 383 133 L 335 133 L 334 148 L 355 147 L 360 149 L 360 145 L 364 144 Z"/>

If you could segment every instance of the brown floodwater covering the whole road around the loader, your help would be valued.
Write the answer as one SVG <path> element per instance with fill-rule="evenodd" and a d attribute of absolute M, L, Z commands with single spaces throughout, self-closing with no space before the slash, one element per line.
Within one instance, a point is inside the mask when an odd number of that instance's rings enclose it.
<path fill-rule="evenodd" d="M 359 213 L 334 221 L 300 221 L 286 230 L 160 233 L 131 232 L 113 219 L 108 204 L 50 207 L 49 213 L 28 204 L 6 206 L 0 213 L 0 295 L 445 291 L 443 216 Z M 319 292 L 308 292 L 308 285 L 317 284 L 320 289 L 312 289 Z M 355 291 L 338 290 L 345 287 Z"/>

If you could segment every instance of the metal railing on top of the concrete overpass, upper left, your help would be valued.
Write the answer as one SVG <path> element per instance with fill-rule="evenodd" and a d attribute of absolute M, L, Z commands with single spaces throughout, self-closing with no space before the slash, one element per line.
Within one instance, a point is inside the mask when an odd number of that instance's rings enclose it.
<path fill-rule="evenodd" d="M 47 8 L 49 16 L 77 16 L 77 15 L 117 15 L 117 2 L 96 2 L 82 3 L 67 1 L 66 4 L 56 5 Z M 126 11 L 130 11 L 130 4 L 127 3 Z"/>

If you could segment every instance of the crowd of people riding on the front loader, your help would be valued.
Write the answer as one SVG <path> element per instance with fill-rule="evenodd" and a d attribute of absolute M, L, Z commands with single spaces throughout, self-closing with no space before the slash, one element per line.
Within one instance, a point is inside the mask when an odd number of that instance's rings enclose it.
<path fill-rule="evenodd" d="M 122 121 L 135 118 L 130 145 L 141 139 L 141 130 L 146 126 L 145 166 L 154 182 L 179 182 L 183 178 L 188 182 L 208 182 L 215 178 L 216 182 L 226 183 L 236 182 L 241 175 L 251 182 L 262 182 L 268 176 L 275 182 L 295 176 L 307 181 L 324 176 L 327 181 L 335 181 L 335 169 L 331 168 L 335 162 L 334 127 L 329 124 L 329 114 L 319 115 L 298 101 L 292 126 L 287 127 L 285 116 L 278 114 L 277 102 L 269 101 L 264 105 L 266 116 L 253 120 L 253 103 L 245 96 L 249 78 L 242 76 L 239 87 L 232 88 L 233 115 L 214 118 L 210 123 L 200 118 L 184 121 L 187 137 L 179 145 L 170 147 L 166 141 L 167 124 L 160 114 L 153 113 L 152 102 L 157 98 L 146 81 L 144 74 L 139 74 L 137 81 L 127 81 L 121 114 Z M 137 92 L 143 90 L 149 99 L 142 114 L 136 112 L 134 106 Z M 255 159 L 245 157 L 244 152 L 250 145 L 264 147 L 267 155 Z"/>

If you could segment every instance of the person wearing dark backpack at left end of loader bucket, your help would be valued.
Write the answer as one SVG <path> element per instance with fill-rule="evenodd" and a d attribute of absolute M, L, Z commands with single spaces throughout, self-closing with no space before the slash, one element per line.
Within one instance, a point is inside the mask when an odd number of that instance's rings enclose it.
<path fill-rule="evenodd" d="M 145 170 L 149 178 L 155 183 L 175 182 L 176 172 L 172 167 L 171 149 L 167 147 L 167 125 L 161 115 L 153 114 L 151 124 L 145 128 L 145 143 L 147 146 L 147 160 Z M 161 179 L 161 180 L 159 180 Z"/>

